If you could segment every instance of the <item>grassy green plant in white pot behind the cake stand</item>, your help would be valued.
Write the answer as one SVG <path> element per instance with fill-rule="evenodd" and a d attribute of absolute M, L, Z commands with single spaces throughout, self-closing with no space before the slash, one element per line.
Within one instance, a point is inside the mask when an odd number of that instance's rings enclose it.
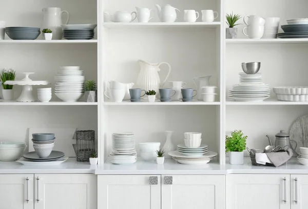
<path fill-rule="evenodd" d="M 2 81 L 2 97 L 4 100 L 12 100 L 14 98 L 13 85 L 4 84 L 6 81 L 15 80 L 15 70 L 4 68 L 1 72 L 0 79 Z"/>

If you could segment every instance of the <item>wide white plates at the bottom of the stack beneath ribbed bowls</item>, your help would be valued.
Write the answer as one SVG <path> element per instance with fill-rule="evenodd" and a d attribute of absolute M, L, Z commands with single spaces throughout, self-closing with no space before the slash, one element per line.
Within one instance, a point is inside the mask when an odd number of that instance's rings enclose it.
<path fill-rule="evenodd" d="M 215 151 L 207 151 L 206 154 L 201 156 L 187 156 L 179 153 L 179 151 L 170 151 L 168 154 L 172 156 L 173 159 L 182 164 L 206 164 L 210 160 L 213 160 L 215 156 L 217 156 Z"/>

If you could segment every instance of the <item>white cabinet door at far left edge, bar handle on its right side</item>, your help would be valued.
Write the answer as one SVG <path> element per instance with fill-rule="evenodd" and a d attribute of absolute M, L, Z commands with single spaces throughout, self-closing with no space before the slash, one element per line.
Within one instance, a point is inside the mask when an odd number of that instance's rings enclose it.
<path fill-rule="evenodd" d="M 33 208 L 33 174 L 0 175 L 0 208 Z"/>

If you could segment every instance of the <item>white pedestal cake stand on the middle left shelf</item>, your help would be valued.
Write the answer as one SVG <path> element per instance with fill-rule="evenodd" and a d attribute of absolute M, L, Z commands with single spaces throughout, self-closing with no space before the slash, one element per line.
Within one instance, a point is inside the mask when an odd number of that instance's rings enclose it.
<path fill-rule="evenodd" d="M 35 102 L 35 98 L 33 97 L 32 86 L 33 85 L 48 85 L 48 81 L 32 81 L 29 79 L 30 74 L 34 74 L 34 72 L 24 72 L 26 74 L 26 78 L 21 81 L 6 81 L 4 84 L 7 85 L 20 85 L 23 86 L 23 92 L 21 96 L 16 100 L 17 102 Z"/>

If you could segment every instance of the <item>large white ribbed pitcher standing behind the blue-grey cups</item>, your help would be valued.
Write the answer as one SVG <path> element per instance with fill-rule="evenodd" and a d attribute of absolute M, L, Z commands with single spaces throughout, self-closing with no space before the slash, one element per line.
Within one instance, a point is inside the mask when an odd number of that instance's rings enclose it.
<path fill-rule="evenodd" d="M 149 63 L 143 60 L 139 60 L 138 62 L 140 64 L 140 73 L 137 79 L 138 88 L 144 89 L 146 91 L 155 90 L 156 95 L 158 95 L 159 88 L 164 86 L 170 75 L 171 66 L 166 62 Z M 161 83 L 158 72 L 161 70 L 159 67 L 163 64 L 167 65 L 169 69 L 165 80 Z"/>

